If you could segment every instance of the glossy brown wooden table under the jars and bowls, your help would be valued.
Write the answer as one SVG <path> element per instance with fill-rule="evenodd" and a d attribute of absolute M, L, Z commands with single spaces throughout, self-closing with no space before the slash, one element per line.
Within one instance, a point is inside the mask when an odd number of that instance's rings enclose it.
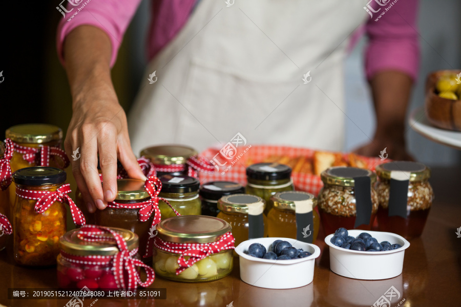
<path fill-rule="evenodd" d="M 401 293 L 400 306 L 461 305 L 461 168 L 434 168 L 431 183 L 435 192 L 426 228 L 421 238 L 410 241 L 405 252 L 403 273 L 395 278 L 367 281 L 334 274 L 329 270 L 328 247 L 320 234 L 316 244 L 322 249 L 316 261 L 313 282 L 290 290 L 270 290 L 250 286 L 240 280 L 238 258 L 231 275 L 213 282 L 182 283 L 157 277 L 152 288 L 166 288 L 166 300 L 99 299 L 93 306 L 372 306 L 393 286 Z M 27 269 L 13 265 L 7 252 L 0 252 L 0 303 L 7 306 L 65 306 L 68 299 L 8 300 L 7 288 L 54 288 L 56 271 Z M 300 272 L 302 274 L 302 272 Z M 93 300 L 86 300 L 84 307 Z"/>

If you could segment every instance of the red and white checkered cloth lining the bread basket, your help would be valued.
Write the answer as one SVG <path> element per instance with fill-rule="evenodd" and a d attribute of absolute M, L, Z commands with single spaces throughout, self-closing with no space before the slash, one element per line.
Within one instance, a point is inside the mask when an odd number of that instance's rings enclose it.
<path fill-rule="evenodd" d="M 302 147 L 288 147 L 288 146 L 270 146 L 270 145 L 255 145 L 251 146 L 245 153 L 243 152 L 247 149 L 248 146 L 240 146 L 237 148 L 236 154 L 233 156 L 233 159 L 227 160 L 222 153 L 220 153 L 221 148 L 208 148 L 201 153 L 202 157 L 205 157 L 208 160 L 213 160 L 215 155 L 218 153 L 217 160 L 223 164 L 227 162 L 225 166 L 219 166 L 219 171 L 215 168 L 213 173 L 200 172 L 200 182 L 209 182 L 209 181 L 232 181 L 238 182 L 242 185 L 246 185 L 246 172 L 245 169 L 247 166 L 254 163 L 260 163 L 270 156 L 287 156 L 290 158 L 297 158 L 304 156 L 307 159 L 312 159 L 313 154 L 316 150 Z M 242 155 L 243 154 L 243 155 Z M 240 158 L 239 157 L 242 155 Z M 231 156 L 231 155 L 228 155 Z M 344 159 L 349 160 L 348 153 L 343 153 Z M 376 157 L 363 157 L 359 156 L 363 161 L 368 165 L 368 168 L 374 171 L 376 165 L 383 163 L 380 158 Z M 389 159 L 386 162 L 390 161 Z M 226 167 L 235 162 L 231 168 L 224 171 Z M 306 191 L 314 195 L 318 195 L 320 189 L 323 187 L 322 180 L 320 176 L 314 174 L 306 174 L 301 172 L 293 172 L 291 178 L 295 184 L 295 189 L 299 191 Z"/>

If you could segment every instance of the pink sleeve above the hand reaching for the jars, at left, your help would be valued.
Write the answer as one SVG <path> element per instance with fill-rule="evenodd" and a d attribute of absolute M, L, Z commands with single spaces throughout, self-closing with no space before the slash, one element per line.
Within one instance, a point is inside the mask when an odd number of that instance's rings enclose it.
<path fill-rule="evenodd" d="M 73 0 L 73 3 L 78 1 Z M 66 11 L 62 10 L 66 16 L 59 22 L 56 45 L 59 59 L 65 65 L 62 57 L 62 44 L 66 36 L 75 28 L 81 25 L 90 25 L 106 32 L 112 43 L 111 67 L 117 59 L 118 48 L 123 39 L 123 34 L 130 24 L 131 18 L 136 12 L 141 0 L 80 0 L 78 5 L 68 4 Z"/>

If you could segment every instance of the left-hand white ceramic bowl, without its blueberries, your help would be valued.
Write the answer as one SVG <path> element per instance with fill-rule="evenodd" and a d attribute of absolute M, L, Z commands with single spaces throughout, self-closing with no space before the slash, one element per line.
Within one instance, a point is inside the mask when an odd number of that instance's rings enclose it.
<path fill-rule="evenodd" d="M 275 240 L 291 243 L 296 248 L 302 248 L 312 255 L 305 258 L 289 260 L 270 260 L 256 258 L 245 254 L 253 243 L 264 245 L 272 251 Z M 240 257 L 240 278 L 252 286 L 267 289 L 292 289 L 306 286 L 312 282 L 315 260 L 320 256 L 320 248 L 313 244 L 300 242 L 290 238 L 257 238 L 246 240 L 235 248 Z"/>

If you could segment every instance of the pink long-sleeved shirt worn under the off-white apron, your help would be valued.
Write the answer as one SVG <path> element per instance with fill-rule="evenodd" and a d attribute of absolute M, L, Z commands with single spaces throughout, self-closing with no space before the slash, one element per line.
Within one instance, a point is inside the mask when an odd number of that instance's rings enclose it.
<path fill-rule="evenodd" d="M 69 1 L 69 0 L 68 0 Z M 74 3 L 76 1 L 74 0 Z M 57 30 L 57 50 L 61 62 L 62 43 L 73 29 L 91 25 L 106 32 L 112 42 L 111 66 L 117 58 L 123 34 L 136 12 L 141 0 L 81 1 L 79 5 L 68 5 L 69 13 L 63 18 Z M 392 2 L 395 2 L 392 1 Z M 397 0 L 385 11 L 381 8 L 357 33 L 352 44 L 361 34 L 369 38 L 366 49 L 365 69 L 370 79 L 382 70 L 398 70 L 416 79 L 420 50 L 416 26 L 418 0 Z M 148 39 L 148 56 L 152 59 L 181 30 L 191 14 L 196 0 L 156 0 L 152 2 L 152 19 Z M 85 5 L 83 9 L 78 11 Z M 376 10 L 376 4 L 373 2 Z M 385 12 L 384 15 L 381 15 Z M 378 16 L 381 17 L 375 21 Z M 70 21 L 68 21 L 70 20 Z"/>

